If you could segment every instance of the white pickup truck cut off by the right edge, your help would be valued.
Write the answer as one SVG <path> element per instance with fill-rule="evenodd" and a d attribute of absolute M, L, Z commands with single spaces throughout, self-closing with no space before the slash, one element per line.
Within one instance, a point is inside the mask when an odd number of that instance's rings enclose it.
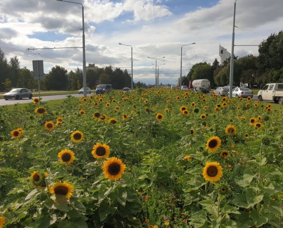
<path fill-rule="evenodd" d="M 266 84 L 259 92 L 258 99 L 260 101 L 274 101 L 283 105 L 283 83 Z"/>

